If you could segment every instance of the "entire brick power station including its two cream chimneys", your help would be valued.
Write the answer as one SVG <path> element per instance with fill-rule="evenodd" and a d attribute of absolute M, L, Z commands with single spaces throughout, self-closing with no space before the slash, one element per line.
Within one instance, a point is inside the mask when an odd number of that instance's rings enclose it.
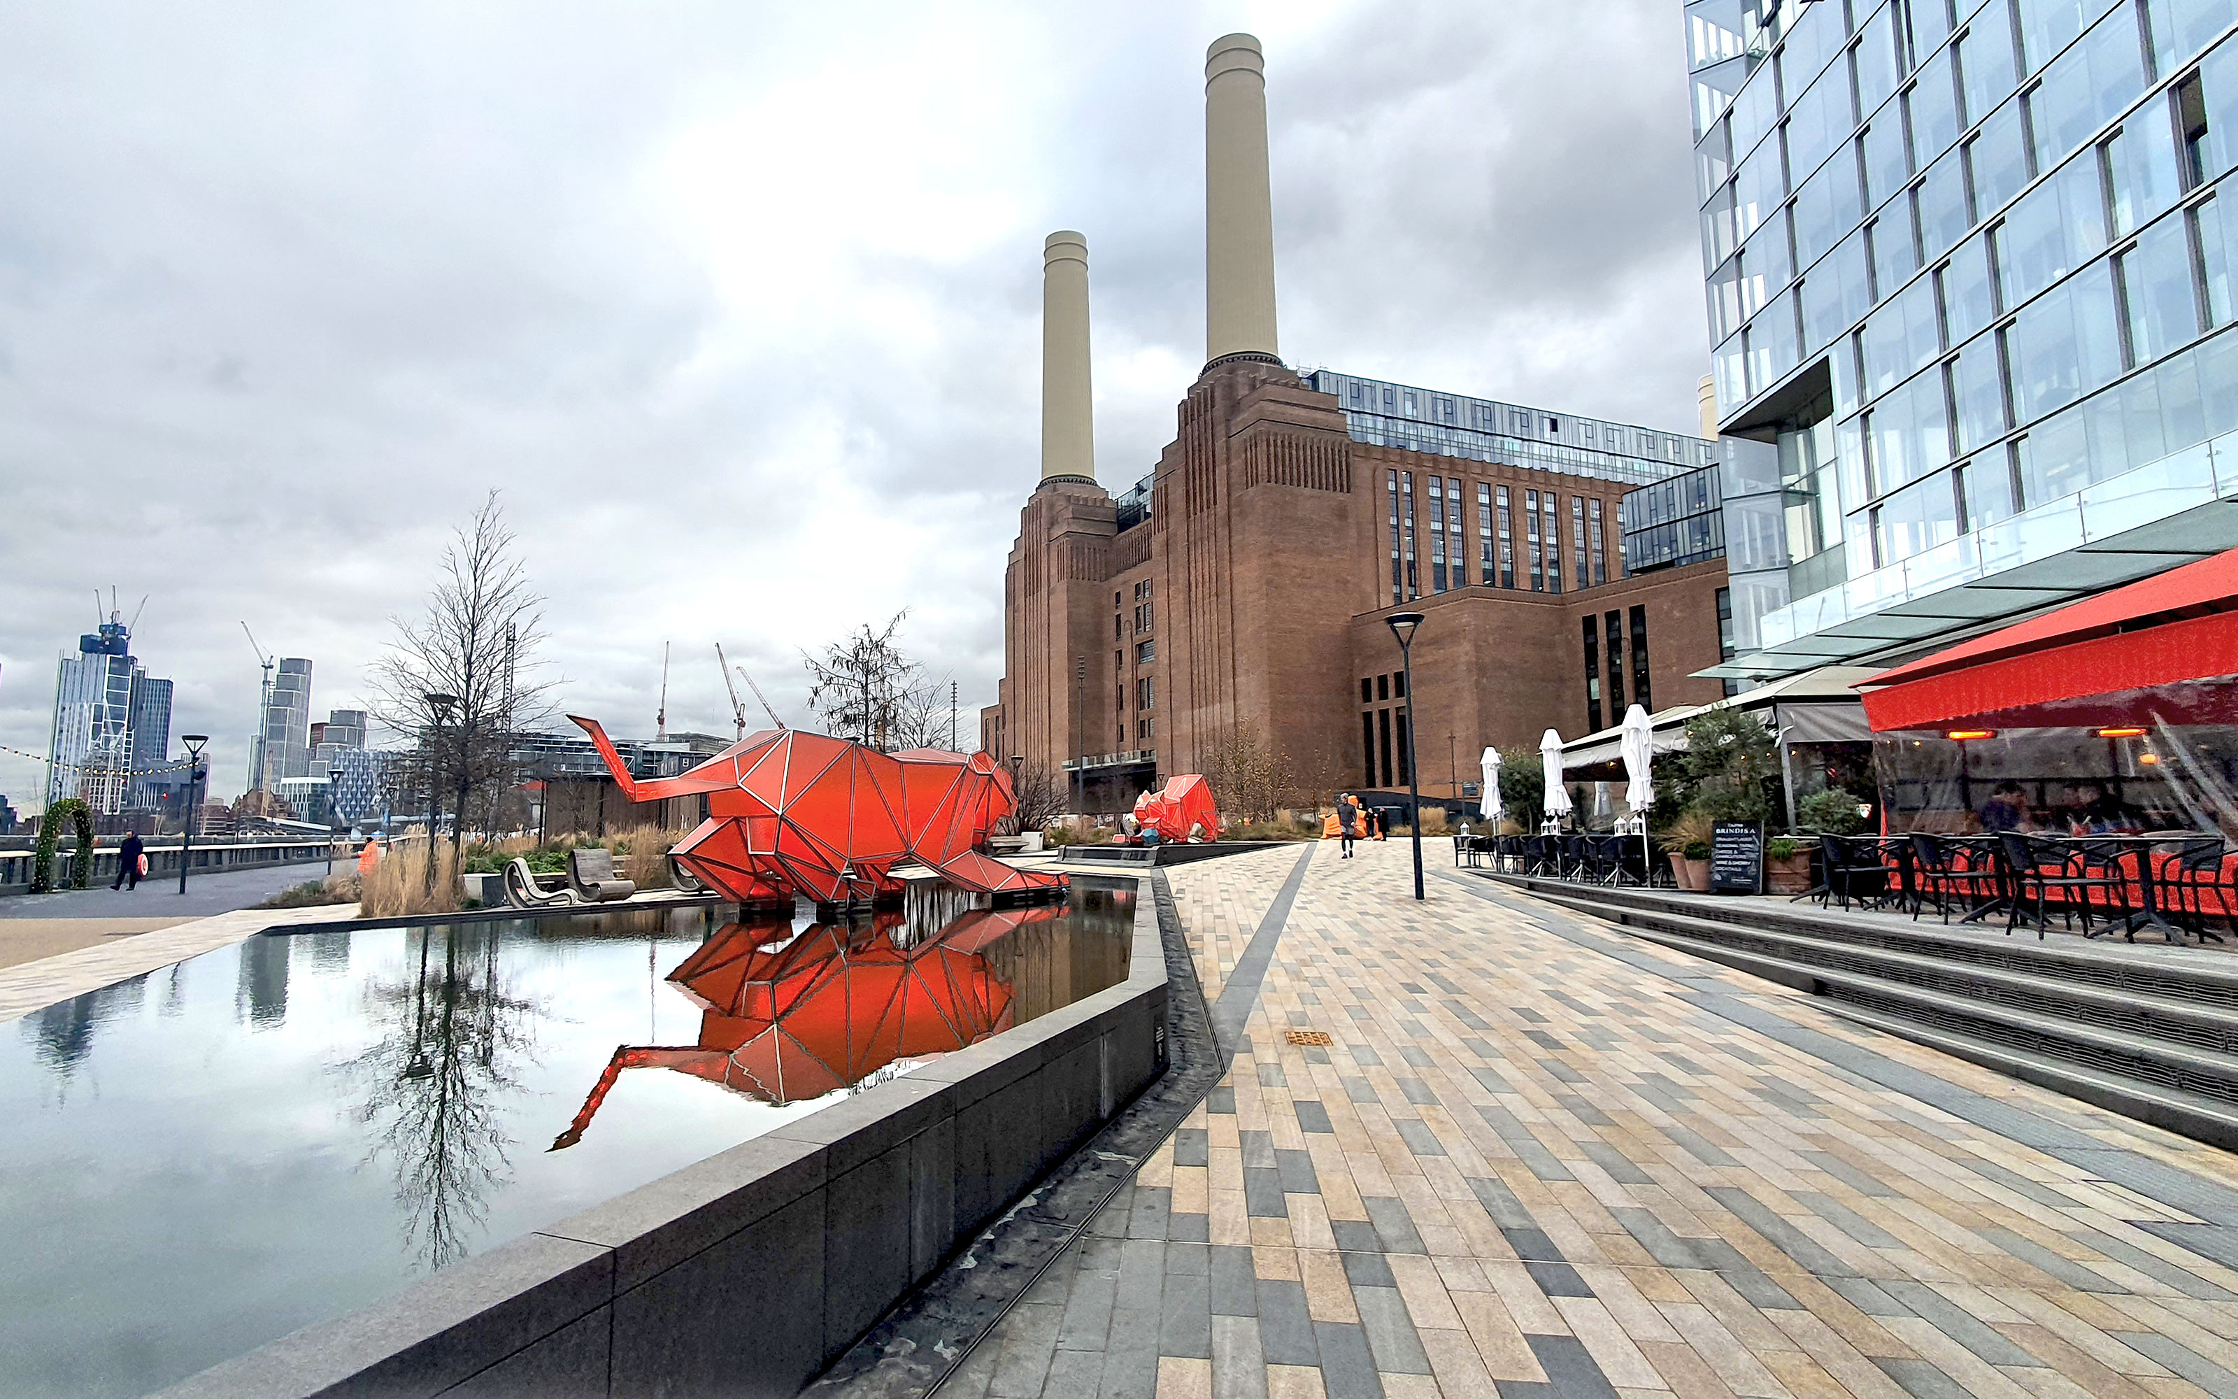
<path fill-rule="evenodd" d="M 1235 736 L 1323 799 L 1405 790 L 1419 727 L 1423 797 L 1464 797 L 1486 745 L 1723 694 L 1690 674 L 1721 660 L 1730 616 L 1717 443 L 1282 360 L 1249 34 L 1204 65 L 1204 369 L 1117 497 L 1097 483 L 1088 242 L 1047 240 L 1041 483 L 987 752 L 1112 813 Z M 1414 694 L 1392 611 L 1426 616 Z"/>

